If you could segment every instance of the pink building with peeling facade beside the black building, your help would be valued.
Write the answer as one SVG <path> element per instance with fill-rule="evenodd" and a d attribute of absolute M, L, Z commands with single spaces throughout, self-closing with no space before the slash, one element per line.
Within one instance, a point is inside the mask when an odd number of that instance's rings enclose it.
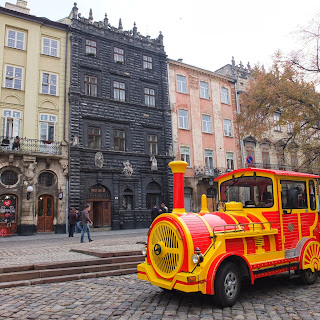
<path fill-rule="evenodd" d="M 169 62 L 173 152 L 187 161 L 185 208 L 200 209 L 201 195 L 215 208 L 215 177 L 241 167 L 235 80 L 183 63 Z"/>

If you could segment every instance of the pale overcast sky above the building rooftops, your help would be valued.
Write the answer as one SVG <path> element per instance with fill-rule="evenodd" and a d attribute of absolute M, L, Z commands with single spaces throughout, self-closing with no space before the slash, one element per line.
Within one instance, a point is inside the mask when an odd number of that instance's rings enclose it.
<path fill-rule="evenodd" d="M 16 0 L 0 0 L 16 3 Z M 30 13 L 51 20 L 68 16 L 74 1 L 29 0 Z M 294 31 L 320 12 L 319 0 L 79 0 L 83 17 L 107 13 L 111 25 L 156 38 L 161 30 L 169 58 L 214 71 L 231 62 L 268 67 L 273 53 L 297 46 Z"/>

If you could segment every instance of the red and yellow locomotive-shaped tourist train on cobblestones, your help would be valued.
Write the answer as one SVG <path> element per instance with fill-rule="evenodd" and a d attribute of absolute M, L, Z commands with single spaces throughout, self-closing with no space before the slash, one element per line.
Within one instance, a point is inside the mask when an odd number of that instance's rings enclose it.
<path fill-rule="evenodd" d="M 148 232 L 138 278 L 166 290 L 212 295 L 235 304 L 241 279 L 282 272 L 313 284 L 320 269 L 317 179 L 282 170 L 243 168 L 215 179 L 218 211 L 184 209 L 184 161 L 173 161 L 174 209 Z"/>

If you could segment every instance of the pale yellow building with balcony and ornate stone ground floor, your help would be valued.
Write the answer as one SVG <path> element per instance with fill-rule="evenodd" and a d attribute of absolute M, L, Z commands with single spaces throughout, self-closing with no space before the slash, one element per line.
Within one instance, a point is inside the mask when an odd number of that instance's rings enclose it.
<path fill-rule="evenodd" d="M 0 229 L 12 233 L 66 231 L 68 35 L 26 1 L 0 7 Z"/>

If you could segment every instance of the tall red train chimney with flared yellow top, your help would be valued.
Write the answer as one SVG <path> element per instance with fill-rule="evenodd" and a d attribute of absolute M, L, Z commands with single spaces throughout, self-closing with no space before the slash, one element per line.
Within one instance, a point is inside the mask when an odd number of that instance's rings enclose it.
<path fill-rule="evenodd" d="M 169 167 L 173 173 L 173 210 L 172 213 L 186 213 L 184 208 L 184 172 L 188 163 L 172 161 Z"/>

